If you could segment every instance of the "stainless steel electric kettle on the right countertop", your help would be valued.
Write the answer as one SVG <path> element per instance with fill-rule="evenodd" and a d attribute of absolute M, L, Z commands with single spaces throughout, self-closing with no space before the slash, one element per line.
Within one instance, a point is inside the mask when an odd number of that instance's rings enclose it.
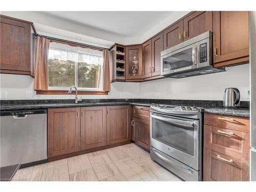
<path fill-rule="evenodd" d="M 240 92 L 237 88 L 225 89 L 223 106 L 226 108 L 235 108 L 240 106 Z"/>

